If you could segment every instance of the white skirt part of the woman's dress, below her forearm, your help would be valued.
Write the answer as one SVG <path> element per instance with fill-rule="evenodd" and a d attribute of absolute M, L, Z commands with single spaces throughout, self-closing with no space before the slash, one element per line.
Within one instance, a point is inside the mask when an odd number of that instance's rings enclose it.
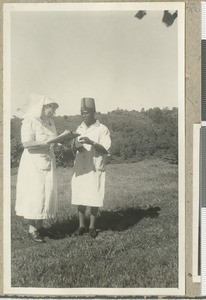
<path fill-rule="evenodd" d="M 24 150 L 18 171 L 16 214 L 26 219 L 53 218 L 58 210 L 56 163 L 53 151 L 50 161 Z M 47 156 L 48 157 L 48 156 Z"/>

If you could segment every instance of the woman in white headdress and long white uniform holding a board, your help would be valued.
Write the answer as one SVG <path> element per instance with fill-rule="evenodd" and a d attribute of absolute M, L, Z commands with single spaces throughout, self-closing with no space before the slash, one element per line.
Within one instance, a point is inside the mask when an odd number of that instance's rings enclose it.
<path fill-rule="evenodd" d="M 56 163 L 53 145 L 57 136 L 52 119 L 58 104 L 45 96 L 32 94 L 18 110 L 23 119 L 21 157 L 16 192 L 16 214 L 27 219 L 29 236 L 44 242 L 39 229 L 44 219 L 53 218 L 58 209 Z"/>

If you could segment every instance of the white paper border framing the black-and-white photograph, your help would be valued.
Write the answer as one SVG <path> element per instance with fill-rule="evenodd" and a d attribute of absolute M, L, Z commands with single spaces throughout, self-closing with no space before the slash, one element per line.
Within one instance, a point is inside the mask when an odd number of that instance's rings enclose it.
<path fill-rule="evenodd" d="M 95 11 L 95 10 L 178 10 L 178 145 L 179 145 L 179 256 L 178 288 L 14 288 L 11 287 L 11 224 L 10 224 L 10 17 L 15 11 Z M 3 273 L 4 293 L 35 296 L 146 296 L 185 294 L 185 3 L 184 2 L 107 2 L 107 3 L 7 3 L 3 7 Z"/>

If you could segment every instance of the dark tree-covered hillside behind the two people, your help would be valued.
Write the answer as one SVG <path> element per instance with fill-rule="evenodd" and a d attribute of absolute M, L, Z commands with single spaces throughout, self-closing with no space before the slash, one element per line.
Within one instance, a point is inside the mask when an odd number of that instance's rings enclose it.
<path fill-rule="evenodd" d="M 107 114 L 97 113 L 97 119 L 106 125 L 112 138 L 111 156 L 108 163 L 137 162 L 149 157 L 158 157 L 170 163 L 178 162 L 178 110 L 153 108 L 126 111 L 117 109 Z M 65 129 L 75 131 L 81 116 L 56 116 L 57 132 Z M 18 164 L 21 155 L 21 121 L 11 120 L 12 165 Z M 70 150 L 58 150 L 59 165 L 71 163 Z M 60 155 L 60 156 L 59 156 Z M 60 159 L 61 157 L 61 159 Z"/>

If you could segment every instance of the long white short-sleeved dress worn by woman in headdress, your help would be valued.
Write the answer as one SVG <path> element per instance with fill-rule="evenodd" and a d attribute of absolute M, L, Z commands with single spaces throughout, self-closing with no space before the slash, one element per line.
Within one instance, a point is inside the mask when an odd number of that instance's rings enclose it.
<path fill-rule="evenodd" d="M 22 122 L 21 141 L 43 142 L 56 137 L 53 120 L 43 122 L 26 118 Z M 24 149 L 17 177 L 16 214 L 26 219 L 47 219 L 56 215 L 56 162 L 52 147 Z"/>

